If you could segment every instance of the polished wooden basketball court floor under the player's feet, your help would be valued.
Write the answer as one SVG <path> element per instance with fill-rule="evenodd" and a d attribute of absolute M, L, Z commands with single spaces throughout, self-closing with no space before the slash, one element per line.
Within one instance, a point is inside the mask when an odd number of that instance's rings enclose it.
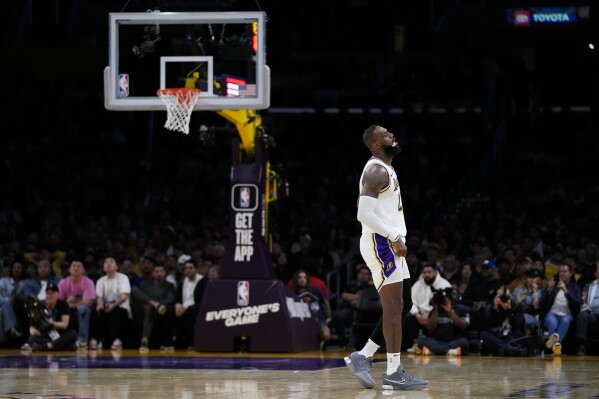
<path fill-rule="evenodd" d="M 1 398 L 599 398 L 599 357 L 402 355 L 420 392 L 363 389 L 343 352 L 0 351 Z M 373 376 L 380 383 L 384 354 Z"/>

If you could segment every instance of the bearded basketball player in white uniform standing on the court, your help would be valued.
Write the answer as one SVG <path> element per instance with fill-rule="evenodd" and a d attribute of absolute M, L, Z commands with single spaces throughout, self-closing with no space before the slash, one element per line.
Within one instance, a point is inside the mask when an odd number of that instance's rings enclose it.
<path fill-rule="evenodd" d="M 374 286 L 383 306 L 382 330 L 387 348 L 383 389 L 421 390 L 428 386 L 428 381 L 408 374 L 400 362 L 403 280 L 410 278 L 410 272 L 405 259 L 407 247 L 403 205 L 391 161 L 394 155 L 399 154 L 401 147 L 391 132 L 377 125 L 364 131 L 363 140 L 372 157 L 366 162 L 360 178 L 360 253 L 372 272 Z M 380 345 L 372 340 L 373 336 L 361 351 L 345 358 L 345 363 L 365 388 L 374 388 L 375 385 L 370 369 L 373 355 Z"/>

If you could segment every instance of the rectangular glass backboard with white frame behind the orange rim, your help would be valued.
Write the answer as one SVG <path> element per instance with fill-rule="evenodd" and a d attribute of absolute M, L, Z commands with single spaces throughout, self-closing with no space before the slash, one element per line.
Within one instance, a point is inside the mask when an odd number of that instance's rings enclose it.
<path fill-rule="evenodd" d="M 270 106 L 263 12 L 110 13 L 106 109 L 165 110 L 164 88 L 201 90 L 194 111 Z"/>

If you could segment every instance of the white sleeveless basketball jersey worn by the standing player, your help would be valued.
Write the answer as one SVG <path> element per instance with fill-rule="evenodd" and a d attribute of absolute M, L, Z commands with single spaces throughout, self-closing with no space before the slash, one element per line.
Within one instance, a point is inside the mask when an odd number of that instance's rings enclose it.
<path fill-rule="evenodd" d="M 372 164 L 381 165 L 385 168 L 387 174 L 389 175 L 389 182 L 387 186 L 384 187 L 379 193 L 379 198 L 374 213 L 391 228 L 391 231 L 397 232 L 405 237 L 407 234 L 406 220 L 403 214 L 403 203 L 401 201 L 399 182 L 397 181 L 395 169 L 393 169 L 392 166 L 387 165 L 379 158 L 371 157 L 368 162 L 366 162 L 364 170 L 362 171 L 362 176 L 360 176 L 360 192 L 362 192 L 362 180 L 364 179 L 364 172 Z M 374 233 L 374 231 L 362 224 L 362 234 L 365 233 Z"/>

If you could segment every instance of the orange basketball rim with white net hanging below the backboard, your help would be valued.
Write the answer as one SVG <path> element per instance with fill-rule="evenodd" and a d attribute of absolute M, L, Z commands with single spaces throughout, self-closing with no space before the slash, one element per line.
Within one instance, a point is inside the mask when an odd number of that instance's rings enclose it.
<path fill-rule="evenodd" d="M 166 105 L 167 119 L 164 127 L 188 134 L 191 111 L 198 101 L 200 90 L 160 89 L 157 94 Z"/>

